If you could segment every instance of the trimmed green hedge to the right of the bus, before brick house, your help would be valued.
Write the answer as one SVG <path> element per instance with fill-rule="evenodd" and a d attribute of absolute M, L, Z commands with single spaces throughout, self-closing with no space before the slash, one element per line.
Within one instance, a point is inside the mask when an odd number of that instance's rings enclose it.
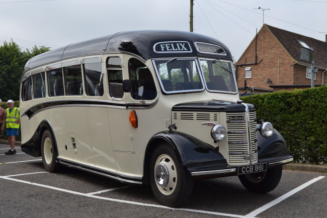
<path fill-rule="evenodd" d="M 327 163 L 327 86 L 241 97 L 284 137 L 294 162 Z"/>

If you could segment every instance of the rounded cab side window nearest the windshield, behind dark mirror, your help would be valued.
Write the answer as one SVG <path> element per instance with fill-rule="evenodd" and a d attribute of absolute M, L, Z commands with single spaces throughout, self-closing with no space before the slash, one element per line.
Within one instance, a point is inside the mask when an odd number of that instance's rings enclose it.
<path fill-rule="evenodd" d="M 150 70 L 141 61 L 131 58 L 128 62 L 129 79 L 132 80 L 132 90 L 144 100 L 156 97 L 156 88 Z M 134 99 L 140 99 L 132 94 Z"/>

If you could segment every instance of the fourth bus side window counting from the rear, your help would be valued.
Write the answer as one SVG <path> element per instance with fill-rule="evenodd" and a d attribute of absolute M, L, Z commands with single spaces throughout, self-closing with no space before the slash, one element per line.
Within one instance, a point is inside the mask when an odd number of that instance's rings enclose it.
<path fill-rule="evenodd" d="M 66 95 L 82 95 L 83 82 L 80 64 L 63 67 Z"/>

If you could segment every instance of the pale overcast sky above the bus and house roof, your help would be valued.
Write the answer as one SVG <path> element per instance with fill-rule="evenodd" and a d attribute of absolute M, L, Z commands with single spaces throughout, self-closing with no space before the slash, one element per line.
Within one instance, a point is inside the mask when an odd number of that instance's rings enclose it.
<path fill-rule="evenodd" d="M 193 29 L 222 41 L 237 61 L 263 12 L 270 26 L 325 41 L 327 0 L 195 0 Z M 54 49 L 121 31 L 190 31 L 189 15 L 190 0 L 0 0 L 0 44 Z"/>

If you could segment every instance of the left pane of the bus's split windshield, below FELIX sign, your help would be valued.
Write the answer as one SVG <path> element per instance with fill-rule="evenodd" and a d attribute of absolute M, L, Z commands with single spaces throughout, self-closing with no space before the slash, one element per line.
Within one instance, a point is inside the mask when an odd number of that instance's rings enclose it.
<path fill-rule="evenodd" d="M 204 90 L 197 59 L 159 59 L 154 65 L 167 93 Z"/>

